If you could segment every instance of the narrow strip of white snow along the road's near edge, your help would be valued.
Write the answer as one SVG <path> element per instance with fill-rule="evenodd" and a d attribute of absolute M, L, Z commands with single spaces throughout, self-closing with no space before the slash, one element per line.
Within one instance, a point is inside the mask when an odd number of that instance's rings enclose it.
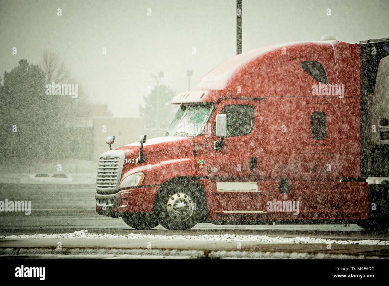
<path fill-rule="evenodd" d="M 130 233 L 97 234 L 88 230 L 75 231 L 73 233 L 56 234 L 31 234 L 31 235 L 0 235 L 0 239 L 177 239 L 177 240 L 211 240 L 211 241 L 247 241 L 263 244 L 359 244 L 359 245 L 389 245 L 389 240 L 363 239 L 363 240 L 334 240 L 314 237 L 270 237 L 267 235 L 235 235 L 235 234 L 205 234 L 205 235 L 152 235 Z"/>

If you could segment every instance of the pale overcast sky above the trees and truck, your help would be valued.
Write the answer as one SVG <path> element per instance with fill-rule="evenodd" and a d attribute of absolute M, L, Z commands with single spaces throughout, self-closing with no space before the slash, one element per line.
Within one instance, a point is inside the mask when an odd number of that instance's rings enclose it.
<path fill-rule="evenodd" d="M 193 87 L 235 56 L 235 9 L 235 0 L 1 0 L 1 77 L 20 59 L 40 64 L 42 51 L 52 49 L 91 103 L 107 103 L 114 116 L 138 116 L 151 73 L 164 71 L 161 82 L 180 93 L 187 70 Z M 389 37 L 388 0 L 242 0 L 242 10 L 243 52 L 324 34 L 349 43 Z"/>

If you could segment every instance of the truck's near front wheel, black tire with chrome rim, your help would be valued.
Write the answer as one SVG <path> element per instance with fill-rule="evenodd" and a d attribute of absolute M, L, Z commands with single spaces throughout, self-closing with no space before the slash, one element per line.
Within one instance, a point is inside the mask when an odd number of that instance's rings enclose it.
<path fill-rule="evenodd" d="M 154 199 L 159 223 L 168 230 L 189 230 L 207 219 L 207 199 L 194 179 L 176 178 L 165 182 Z"/>

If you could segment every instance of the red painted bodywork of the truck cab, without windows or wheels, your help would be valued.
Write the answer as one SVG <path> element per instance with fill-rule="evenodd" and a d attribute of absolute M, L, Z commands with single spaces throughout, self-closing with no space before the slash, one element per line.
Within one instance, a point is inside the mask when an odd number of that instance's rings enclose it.
<path fill-rule="evenodd" d="M 109 211 L 150 212 L 159 186 L 185 176 L 201 182 L 209 219 L 368 218 L 368 184 L 340 182 L 342 177 L 359 177 L 359 44 L 305 42 L 284 47 L 286 54 L 278 45 L 258 50 L 249 60 L 239 55 L 220 66 L 230 69 L 224 75 L 221 68 L 215 69 L 219 75 L 207 74 L 207 81 L 194 88 L 208 86 L 206 95 L 197 101 L 215 104 L 202 135 L 176 137 L 173 142 L 172 137 L 163 137 L 159 143 L 145 144 L 145 163 L 125 163 L 121 180 L 144 172 L 143 186 L 152 187 L 119 191 L 117 206 Z M 344 97 L 313 95 L 313 85 L 319 82 L 300 67 L 302 61 L 320 62 L 329 84 L 345 85 Z M 214 82 L 209 81 L 212 78 Z M 187 93 L 183 100 L 190 98 Z M 225 138 L 219 151 L 214 149 L 214 141 L 220 138 L 212 130 L 216 115 L 226 104 L 251 105 L 254 121 L 251 133 Z M 311 137 L 312 112 L 326 114 L 324 140 Z M 135 159 L 139 144 L 116 150 Z M 258 159 L 254 170 L 249 168 L 252 157 Z M 280 193 L 280 178 L 291 182 L 289 193 Z M 258 191 L 221 192 L 216 188 L 220 181 L 257 182 Z M 128 203 L 119 207 L 124 199 Z M 273 200 L 298 201 L 299 213 L 266 212 L 267 203 Z"/>

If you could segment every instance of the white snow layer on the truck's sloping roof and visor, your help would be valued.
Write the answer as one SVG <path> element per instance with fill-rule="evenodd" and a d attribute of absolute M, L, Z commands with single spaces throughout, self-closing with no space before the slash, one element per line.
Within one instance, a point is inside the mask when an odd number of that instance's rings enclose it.
<path fill-rule="evenodd" d="M 228 80 L 233 76 L 237 70 L 243 67 L 246 63 L 258 58 L 258 56 L 279 49 L 282 47 L 293 46 L 296 44 L 305 43 L 333 43 L 336 40 L 325 41 L 311 41 L 311 42 L 289 42 L 284 44 L 277 44 L 267 47 L 261 47 L 246 53 L 238 54 L 229 60 L 224 61 L 220 65 L 213 68 L 208 72 L 201 81 L 191 91 L 185 91 L 176 95 L 172 104 L 180 104 L 184 102 L 201 102 L 205 98 L 210 90 L 221 90 L 226 88 Z"/>

